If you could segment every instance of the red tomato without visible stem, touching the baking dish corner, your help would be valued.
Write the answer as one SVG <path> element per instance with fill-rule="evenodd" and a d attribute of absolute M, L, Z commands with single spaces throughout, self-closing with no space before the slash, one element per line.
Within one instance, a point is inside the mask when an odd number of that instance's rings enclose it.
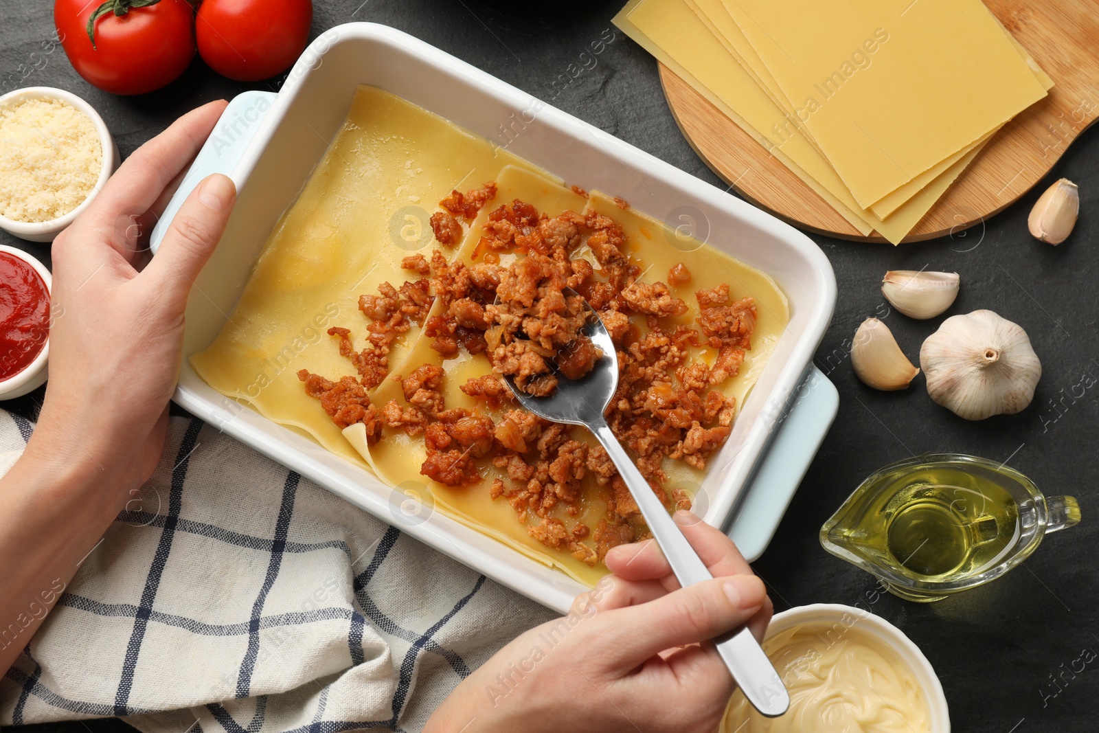
<path fill-rule="evenodd" d="M 269 79 L 306 49 L 312 0 L 203 0 L 195 31 L 210 68 L 237 81 Z"/>

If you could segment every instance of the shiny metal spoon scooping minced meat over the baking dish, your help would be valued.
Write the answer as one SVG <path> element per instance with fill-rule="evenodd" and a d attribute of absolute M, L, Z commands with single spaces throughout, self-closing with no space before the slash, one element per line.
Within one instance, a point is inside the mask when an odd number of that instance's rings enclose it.
<path fill-rule="evenodd" d="M 577 295 L 571 288 L 565 288 L 564 292 L 568 296 Z M 511 376 L 506 376 L 504 379 L 519 403 L 540 418 L 584 425 L 590 430 L 607 449 L 630 488 L 630 493 L 637 502 L 637 508 L 657 544 L 664 551 L 664 556 L 668 558 L 668 564 L 671 565 L 679 584 L 686 587 L 709 580 L 713 577 L 710 570 L 699 559 L 695 548 L 690 546 L 687 537 L 653 493 L 652 487 L 642 477 L 603 418 L 603 411 L 618 388 L 618 356 L 611 335 L 599 320 L 598 313 L 592 310 L 588 301 L 584 301 L 584 307 L 589 318 L 582 333 L 603 352 L 602 358 L 596 362 L 591 371 L 576 380 L 558 373 L 557 389 L 548 397 L 532 397 L 518 389 Z M 740 685 L 744 697 L 755 706 L 756 710 L 768 717 L 786 712 L 790 707 L 790 696 L 770 659 L 764 654 L 747 626 L 720 636 L 713 640 L 713 643 L 733 679 Z"/>

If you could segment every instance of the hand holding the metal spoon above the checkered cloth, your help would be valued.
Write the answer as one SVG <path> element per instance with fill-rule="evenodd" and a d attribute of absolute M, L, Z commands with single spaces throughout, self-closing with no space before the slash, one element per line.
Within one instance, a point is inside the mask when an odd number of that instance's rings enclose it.
<path fill-rule="evenodd" d="M 613 575 L 493 655 L 425 732 L 717 731 L 734 685 L 708 640 L 745 623 L 762 640 L 771 604 L 729 537 L 675 519 L 713 580 L 680 588 L 652 540 L 615 547 Z"/>

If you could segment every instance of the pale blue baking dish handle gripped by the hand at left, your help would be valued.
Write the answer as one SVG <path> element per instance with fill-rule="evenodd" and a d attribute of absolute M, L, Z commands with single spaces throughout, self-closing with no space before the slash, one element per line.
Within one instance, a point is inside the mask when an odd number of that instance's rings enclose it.
<path fill-rule="evenodd" d="M 179 207 L 200 180 L 215 173 L 233 177 L 236 164 L 241 162 L 244 149 L 259 130 L 259 121 L 271 108 L 276 96 L 271 91 L 245 91 L 229 102 L 218 119 L 218 124 L 213 126 L 213 132 L 195 156 L 191 167 L 187 169 L 187 175 L 179 182 L 179 188 L 165 207 L 164 214 L 153 227 L 153 233 L 149 235 L 149 249 L 153 254 L 156 254 L 160 246 L 160 240 L 164 238 L 171 220 L 176 218 Z"/>

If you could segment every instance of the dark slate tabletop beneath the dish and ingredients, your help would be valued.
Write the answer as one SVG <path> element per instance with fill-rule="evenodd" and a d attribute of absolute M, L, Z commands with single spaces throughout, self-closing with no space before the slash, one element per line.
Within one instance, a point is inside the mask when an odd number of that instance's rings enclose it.
<path fill-rule="evenodd" d="M 552 102 L 642 149 L 721 188 L 691 152 L 668 112 L 656 63 L 614 29 L 611 2 L 492 3 L 487 0 L 317 0 L 313 35 L 348 21 L 392 25 Z M 141 98 L 93 89 L 58 48 L 42 54 L 53 33 L 48 3 L 0 7 L 0 90 L 31 85 L 74 91 L 96 107 L 123 157 L 187 110 L 248 88 L 277 90 L 279 80 L 242 85 L 196 58 L 178 81 Z M 598 56 L 595 41 L 613 34 Z M 32 54 L 35 54 L 32 56 Z M 593 62 L 592 62 L 593 59 Z M 571 71 L 569 70 L 573 66 Z M 23 78 L 27 68 L 33 71 Z M 576 69 L 582 69 L 575 78 Z M 562 75 L 565 75 L 564 77 Z M 568 81 L 567 79 L 571 79 Z M 1096 333 L 1099 275 L 1099 133 L 1081 136 L 1052 174 L 1007 211 L 932 242 L 900 247 L 812 235 L 835 268 L 840 297 L 817 365 L 836 385 L 840 414 L 798 490 L 766 554 L 755 564 L 776 609 L 812 602 L 870 608 L 900 626 L 926 654 L 942 679 L 954 730 L 1029 733 L 1095 731 L 1099 712 L 1099 590 L 1092 514 L 1099 437 Z M 1026 232 L 1041 190 L 1067 177 L 1080 187 L 1080 221 L 1059 247 Z M 49 262 L 49 247 L 0 232 Z M 962 292 L 950 311 L 987 308 L 1022 325 L 1042 359 L 1034 402 L 1024 412 L 970 423 L 934 404 L 922 376 L 900 393 L 863 386 L 850 364 L 858 324 L 880 315 L 879 281 L 887 269 L 953 270 Z M 941 319 L 940 319 L 941 320 Z M 903 351 L 917 358 L 939 320 L 888 318 Z M 1075 389 L 1074 389 L 1075 388 Z M 42 391 L 7 403 L 33 417 Z M 939 603 L 917 604 L 880 592 L 869 575 L 821 549 L 817 533 L 851 490 L 878 467 L 912 454 L 958 452 L 1007 460 L 1047 493 L 1079 498 L 1084 522 L 1047 538 L 1022 567 L 996 582 Z M 1084 665 L 1083 670 L 1081 665 Z M 1073 671 L 1073 669 L 1077 671 Z M 80 731 L 85 724 L 40 726 Z M 96 731 L 124 729 L 89 721 Z"/>

